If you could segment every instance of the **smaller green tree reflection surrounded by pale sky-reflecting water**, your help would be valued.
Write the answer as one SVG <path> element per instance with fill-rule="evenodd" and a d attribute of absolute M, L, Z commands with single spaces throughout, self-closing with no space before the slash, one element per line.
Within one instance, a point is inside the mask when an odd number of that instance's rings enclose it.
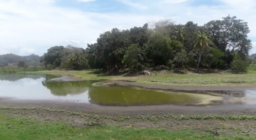
<path fill-rule="evenodd" d="M 68 82 L 47 82 L 42 81 L 42 85 L 56 96 L 67 96 L 68 94 L 82 94 L 92 85 L 90 81 L 68 81 Z"/>

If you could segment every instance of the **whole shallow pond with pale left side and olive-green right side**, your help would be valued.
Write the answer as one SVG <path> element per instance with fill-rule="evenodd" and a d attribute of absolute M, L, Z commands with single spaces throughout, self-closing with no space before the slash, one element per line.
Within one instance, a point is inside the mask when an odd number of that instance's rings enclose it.
<path fill-rule="evenodd" d="M 110 106 L 202 104 L 213 96 L 146 90 L 136 87 L 98 86 L 96 80 L 50 82 L 56 75 L 1 75 L 0 97 L 23 100 L 56 100 Z"/>

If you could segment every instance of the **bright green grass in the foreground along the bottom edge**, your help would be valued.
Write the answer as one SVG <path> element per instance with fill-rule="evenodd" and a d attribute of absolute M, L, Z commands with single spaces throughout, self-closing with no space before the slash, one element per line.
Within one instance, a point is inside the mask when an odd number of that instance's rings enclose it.
<path fill-rule="evenodd" d="M 93 122 L 91 123 L 93 124 Z M 248 135 L 248 134 L 247 134 Z M 197 130 L 134 129 L 122 127 L 76 128 L 65 122 L 40 123 L 0 115 L 0 140 L 254 140 L 246 134 L 214 136 Z"/>

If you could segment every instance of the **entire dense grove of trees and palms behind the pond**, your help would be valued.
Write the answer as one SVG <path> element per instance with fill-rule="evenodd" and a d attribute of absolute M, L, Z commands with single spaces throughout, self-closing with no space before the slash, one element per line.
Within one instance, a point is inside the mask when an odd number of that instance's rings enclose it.
<path fill-rule="evenodd" d="M 225 17 L 199 26 L 164 19 L 100 34 L 86 49 L 54 46 L 41 58 L 47 69 L 102 69 L 118 73 L 145 68 L 218 68 L 243 72 L 252 48 L 247 22 Z"/>

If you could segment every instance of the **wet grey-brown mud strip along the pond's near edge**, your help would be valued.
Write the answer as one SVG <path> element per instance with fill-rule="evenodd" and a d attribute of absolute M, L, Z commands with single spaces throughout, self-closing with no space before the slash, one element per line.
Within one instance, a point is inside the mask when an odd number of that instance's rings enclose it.
<path fill-rule="evenodd" d="M 61 101 L 44 101 L 44 100 L 15 100 L 13 98 L 0 98 L 0 106 L 11 107 L 38 107 L 52 108 L 59 110 L 69 110 L 74 112 L 93 112 L 96 114 L 149 114 L 158 113 L 181 113 L 181 114 L 237 114 L 237 113 L 255 113 L 256 105 L 249 104 L 223 104 L 213 106 L 186 106 L 186 105 L 152 105 L 152 106 L 100 106 L 96 104 L 61 102 Z"/>

